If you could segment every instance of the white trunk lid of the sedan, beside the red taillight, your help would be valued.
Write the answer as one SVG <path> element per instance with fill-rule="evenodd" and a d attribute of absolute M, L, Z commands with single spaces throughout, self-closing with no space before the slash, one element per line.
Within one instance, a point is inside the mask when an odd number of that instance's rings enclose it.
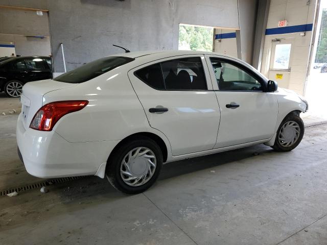
<path fill-rule="evenodd" d="M 20 96 L 21 118 L 25 129 L 29 128 L 35 113 L 43 106 L 43 95 L 54 90 L 77 86 L 74 83 L 63 83 L 51 79 L 29 82 L 22 88 Z"/>

